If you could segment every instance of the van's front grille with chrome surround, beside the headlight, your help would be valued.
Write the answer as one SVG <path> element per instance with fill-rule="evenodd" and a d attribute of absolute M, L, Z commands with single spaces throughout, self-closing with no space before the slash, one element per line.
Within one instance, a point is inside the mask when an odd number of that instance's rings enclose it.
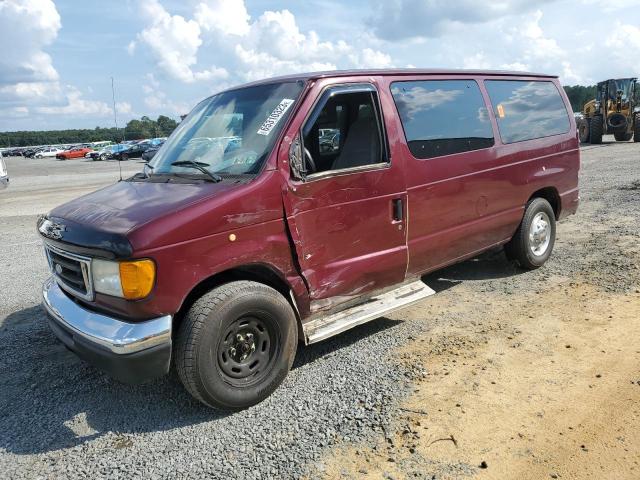
<path fill-rule="evenodd" d="M 93 300 L 91 259 L 45 244 L 49 267 L 58 285 L 84 300 Z"/>

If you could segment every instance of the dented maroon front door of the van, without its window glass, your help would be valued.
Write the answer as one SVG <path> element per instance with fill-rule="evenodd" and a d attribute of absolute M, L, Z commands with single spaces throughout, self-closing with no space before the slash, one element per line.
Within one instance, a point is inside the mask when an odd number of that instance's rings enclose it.
<path fill-rule="evenodd" d="M 329 85 L 363 81 L 379 85 L 380 79 L 320 80 L 300 112 L 310 111 Z M 379 97 L 385 120 L 393 118 L 389 98 L 381 91 Z M 303 114 L 297 115 L 287 130 L 279 167 L 285 178 L 282 195 L 287 222 L 313 311 L 404 280 L 406 215 L 395 221 L 392 202 L 401 200 L 406 205 L 406 190 L 402 158 L 394 155 L 399 132 L 393 126 L 387 126 L 390 165 L 307 182 L 290 178 L 288 148 L 303 120 Z"/>

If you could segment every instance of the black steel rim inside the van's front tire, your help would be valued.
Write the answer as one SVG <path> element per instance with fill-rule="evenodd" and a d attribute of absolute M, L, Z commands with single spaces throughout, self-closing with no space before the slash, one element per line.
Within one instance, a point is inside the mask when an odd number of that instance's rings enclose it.
<path fill-rule="evenodd" d="M 280 337 L 272 320 L 258 315 L 243 316 L 228 325 L 220 338 L 218 369 L 231 385 L 258 383 L 271 370 L 279 346 Z"/>

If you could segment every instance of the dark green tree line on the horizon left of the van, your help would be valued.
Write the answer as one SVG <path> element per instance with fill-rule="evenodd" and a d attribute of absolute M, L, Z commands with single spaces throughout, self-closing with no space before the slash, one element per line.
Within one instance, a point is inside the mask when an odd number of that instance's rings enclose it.
<path fill-rule="evenodd" d="M 0 147 L 26 147 L 29 145 L 56 145 L 167 137 L 178 126 L 173 118 L 160 115 L 156 120 L 147 116 L 131 120 L 124 128 L 68 129 L 45 131 L 0 132 Z"/>

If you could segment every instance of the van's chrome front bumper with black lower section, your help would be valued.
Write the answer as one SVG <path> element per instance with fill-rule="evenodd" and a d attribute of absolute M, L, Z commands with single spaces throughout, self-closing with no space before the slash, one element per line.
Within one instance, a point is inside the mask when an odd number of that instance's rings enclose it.
<path fill-rule="evenodd" d="M 168 372 L 171 315 L 126 322 L 92 312 L 71 300 L 53 277 L 44 283 L 42 297 L 56 336 L 90 363 L 134 383 Z"/>

